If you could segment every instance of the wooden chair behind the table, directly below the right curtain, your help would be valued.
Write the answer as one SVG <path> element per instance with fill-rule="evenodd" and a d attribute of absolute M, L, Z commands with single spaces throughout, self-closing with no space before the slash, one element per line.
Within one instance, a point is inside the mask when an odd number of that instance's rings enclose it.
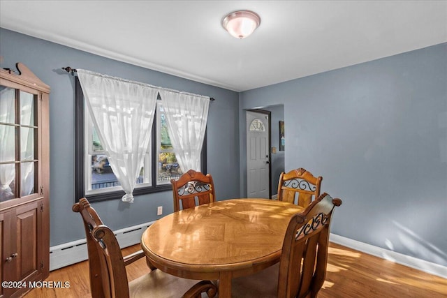
<path fill-rule="evenodd" d="M 171 179 L 173 185 L 174 211 L 196 207 L 216 201 L 214 183 L 210 174 L 189 170 L 178 179 Z"/>

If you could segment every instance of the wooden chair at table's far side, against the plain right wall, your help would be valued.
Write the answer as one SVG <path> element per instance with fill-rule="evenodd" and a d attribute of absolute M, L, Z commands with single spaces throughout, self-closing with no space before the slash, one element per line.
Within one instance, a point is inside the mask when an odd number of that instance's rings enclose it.
<path fill-rule="evenodd" d="M 314 177 L 311 172 L 300 167 L 279 176 L 278 199 L 307 207 L 312 199 L 320 195 L 323 177 Z"/>

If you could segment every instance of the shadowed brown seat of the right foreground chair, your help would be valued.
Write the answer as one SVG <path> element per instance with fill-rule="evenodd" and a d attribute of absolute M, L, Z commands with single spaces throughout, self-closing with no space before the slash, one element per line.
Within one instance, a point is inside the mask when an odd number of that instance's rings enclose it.
<path fill-rule="evenodd" d="M 279 263 L 249 276 L 233 278 L 231 297 L 276 298 L 278 292 Z"/>

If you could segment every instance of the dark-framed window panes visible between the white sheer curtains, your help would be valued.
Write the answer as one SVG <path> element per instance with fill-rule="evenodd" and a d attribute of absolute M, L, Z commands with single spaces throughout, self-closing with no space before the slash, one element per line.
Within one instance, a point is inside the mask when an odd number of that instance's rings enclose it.
<path fill-rule="evenodd" d="M 157 99 L 152 144 L 147 150 L 134 195 L 171 191 L 170 179 L 178 179 L 183 173 L 170 142 L 163 101 Z M 124 191 L 113 174 L 91 119 L 84 111 L 84 96 L 78 77 L 75 77 L 75 101 L 76 201 L 83 197 L 90 202 L 122 198 Z M 206 134 L 200 162 L 202 172 L 206 172 Z"/>

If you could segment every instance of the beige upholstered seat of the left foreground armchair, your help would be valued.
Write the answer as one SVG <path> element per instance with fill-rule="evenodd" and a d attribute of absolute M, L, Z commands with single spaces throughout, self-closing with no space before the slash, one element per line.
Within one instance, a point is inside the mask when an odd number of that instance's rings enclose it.
<path fill-rule="evenodd" d="M 179 298 L 179 295 L 183 295 L 198 282 L 193 279 L 178 278 L 155 269 L 129 283 L 129 297 Z"/>

